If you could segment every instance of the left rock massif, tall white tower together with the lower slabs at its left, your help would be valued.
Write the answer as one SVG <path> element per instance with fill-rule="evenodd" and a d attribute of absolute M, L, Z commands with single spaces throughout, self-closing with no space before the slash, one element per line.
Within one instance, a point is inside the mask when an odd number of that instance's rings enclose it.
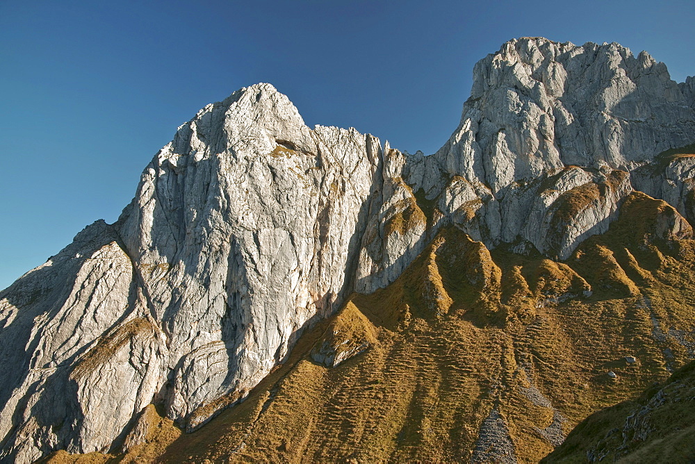
<path fill-rule="evenodd" d="M 381 172 L 377 139 L 311 131 L 270 85 L 206 106 L 113 226 L 0 295 L 4 455 L 104 450 L 153 401 L 190 428 L 243 396 L 348 291 Z"/>

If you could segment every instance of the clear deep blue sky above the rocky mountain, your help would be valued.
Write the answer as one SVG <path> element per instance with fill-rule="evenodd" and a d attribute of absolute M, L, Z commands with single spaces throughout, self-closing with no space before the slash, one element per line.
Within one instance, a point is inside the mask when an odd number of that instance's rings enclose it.
<path fill-rule="evenodd" d="M 694 24 L 692 0 L 0 0 L 0 288 L 115 221 L 177 126 L 238 88 L 430 154 L 511 38 L 619 42 L 680 82 Z"/>

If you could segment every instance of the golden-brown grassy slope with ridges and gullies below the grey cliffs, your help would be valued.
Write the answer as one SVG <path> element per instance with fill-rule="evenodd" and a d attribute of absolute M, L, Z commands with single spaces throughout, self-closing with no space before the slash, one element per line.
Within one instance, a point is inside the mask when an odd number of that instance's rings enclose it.
<path fill-rule="evenodd" d="M 662 201 L 633 194 L 610 231 L 565 263 L 491 254 L 457 229 L 440 231 L 388 288 L 353 295 L 350 304 L 376 334 L 367 351 L 334 368 L 311 361 L 332 323 L 324 322 L 243 403 L 195 433 L 170 435 L 170 445 L 152 440 L 147 456 L 468 461 L 497 408 L 516 458 L 537 462 L 553 451 L 543 430 L 556 412 L 567 433 L 687 361 L 668 334 L 673 327 L 695 341 L 695 254 L 689 240 L 653 234 L 669 214 Z M 624 356 L 639 361 L 628 365 Z"/>

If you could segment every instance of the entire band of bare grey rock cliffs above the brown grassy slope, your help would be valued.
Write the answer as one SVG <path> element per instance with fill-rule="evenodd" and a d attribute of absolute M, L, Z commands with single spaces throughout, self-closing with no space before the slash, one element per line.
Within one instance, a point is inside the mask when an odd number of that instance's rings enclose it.
<path fill-rule="evenodd" d="M 443 226 L 567 258 L 639 185 L 687 237 L 692 166 L 655 156 L 695 141 L 693 94 L 644 52 L 525 38 L 477 63 L 432 156 L 309 129 L 268 84 L 206 106 L 115 224 L 0 293 L 1 456 L 116 449 L 151 403 L 195 429 Z"/>

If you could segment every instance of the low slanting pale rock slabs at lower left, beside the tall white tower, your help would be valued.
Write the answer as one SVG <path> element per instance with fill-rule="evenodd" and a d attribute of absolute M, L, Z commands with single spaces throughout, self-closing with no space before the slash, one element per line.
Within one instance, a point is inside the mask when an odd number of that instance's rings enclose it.
<path fill-rule="evenodd" d="M 2 292 L 3 456 L 108 447 L 152 401 L 162 376 L 150 364 L 156 337 L 104 349 L 137 308 L 131 260 L 103 221 Z"/>

